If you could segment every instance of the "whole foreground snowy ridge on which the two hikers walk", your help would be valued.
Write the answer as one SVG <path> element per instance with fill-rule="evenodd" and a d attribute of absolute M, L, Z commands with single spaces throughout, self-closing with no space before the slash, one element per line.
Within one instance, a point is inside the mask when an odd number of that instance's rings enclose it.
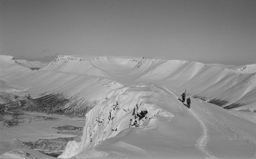
<path fill-rule="evenodd" d="M 188 109 L 179 96 L 155 84 L 110 92 L 86 114 L 82 142 L 69 142 L 59 157 L 256 157 L 255 121 L 193 98 Z"/>

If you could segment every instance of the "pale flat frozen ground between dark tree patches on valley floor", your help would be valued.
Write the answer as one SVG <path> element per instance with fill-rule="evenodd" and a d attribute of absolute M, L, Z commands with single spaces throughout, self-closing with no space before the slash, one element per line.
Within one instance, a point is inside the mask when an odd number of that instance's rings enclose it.
<path fill-rule="evenodd" d="M 27 114 L 35 116 L 35 114 Z M 21 156 L 28 158 L 51 158 L 32 149 L 26 148 L 22 142 L 37 142 L 39 139 L 69 138 L 77 135 L 58 134 L 58 129 L 53 127 L 71 125 L 75 127 L 84 127 L 85 118 L 68 118 L 65 116 L 37 114 L 45 116 L 39 120 L 24 122 L 20 126 L 0 127 L 0 158 L 19 158 Z M 6 119 L 6 118 L 4 118 Z M 37 119 L 37 118 L 36 118 Z M 2 121 L 1 121 L 2 122 Z M 14 140 L 15 139 L 15 140 Z M 49 142 L 47 147 L 53 147 Z M 30 154 L 29 156 L 26 153 Z M 21 155 L 21 156 L 18 156 Z"/>

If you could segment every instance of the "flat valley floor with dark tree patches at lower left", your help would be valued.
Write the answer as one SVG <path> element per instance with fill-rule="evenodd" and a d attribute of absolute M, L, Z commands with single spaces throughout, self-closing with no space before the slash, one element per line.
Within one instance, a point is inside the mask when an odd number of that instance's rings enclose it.
<path fill-rule="evenodd" d="M 6 152 L 16 154 L 18 150 L 16 152 L 15 149 L 23 149 L 23 152 L 34 152 L 32 149 L 36 149 L 50 156 L 55 154 L 57 157 L 69 140 L 81 141 L 85 122 L 85 118 L 81 117 L 17 111 L 1 113 L 0 117 L 0 158 L 5 158 Z M 41 153 L 34 155 L 45 158 Z"/>

